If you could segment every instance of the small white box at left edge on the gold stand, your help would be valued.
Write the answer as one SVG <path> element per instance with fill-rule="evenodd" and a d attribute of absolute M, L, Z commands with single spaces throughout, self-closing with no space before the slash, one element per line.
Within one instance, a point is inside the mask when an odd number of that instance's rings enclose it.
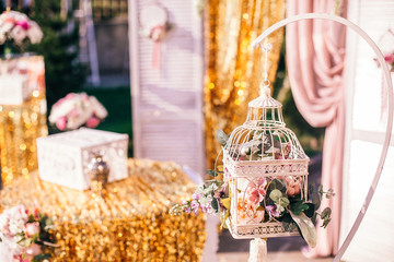
<path fill-rule="evenodd" d="M 27 74 L 0 75 L 0 105 L 21 105 L 30 95 Z"/>

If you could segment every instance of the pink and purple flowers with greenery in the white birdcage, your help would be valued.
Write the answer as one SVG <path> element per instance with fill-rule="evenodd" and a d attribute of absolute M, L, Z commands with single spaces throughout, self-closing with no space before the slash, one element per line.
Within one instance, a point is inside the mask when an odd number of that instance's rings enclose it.
<path fill-rule="evenodd" d="M 221 130 L 217 133 L 217 139 L 223 146 L 228 143 L 229 136 Z M 258 155 L 267 143 L 258 138 L 250 141 L 252 145 L 247 150 L 242 150 L 245 156 L 248 154 Z M 256 148 L 254 151 L 254 148 Z M 286 145 L 287 150 L 289 144 Z M 256 156 L 257 157 L 257 156 Z M 288 158 L 289 154 L 276 154 L 276 159 Z M 315 243 L 314 224 L 317 216 L 323 221 L 322 227 L 326 227 L 331 222 L 331 209 L 326 207 L 320 212 L 323 198 L 335 195 L 332 189 L 325 191 L 323 186 L 315 188 L 311 182 L 308 186 L 308 195 L 303 195 L 303 181 L 294 179 L 292 176 L 264 178 L 259 177 L 255 182 L 248 183 L 243 192 L 244 200 L 237 201 L 236 211 L 232 212 L 229 181 L 223 179 L 229 170 L 207 170 L 212 179 L 207 180 L 205 184 L 196 187 L 192 198 L 184 200 L 182 204 L 175 204 L 170 213 L 179 215 L 182 213 L 198 213 L 219 215 L 221 227 L 227 228 L 227 222 L 232 214 L 236 214 L 237 219 L 247 223 L 252 216 L 254 223 L 264 224 L 279 222 L 285 230 L 299 230 L 310 246 Z"/>

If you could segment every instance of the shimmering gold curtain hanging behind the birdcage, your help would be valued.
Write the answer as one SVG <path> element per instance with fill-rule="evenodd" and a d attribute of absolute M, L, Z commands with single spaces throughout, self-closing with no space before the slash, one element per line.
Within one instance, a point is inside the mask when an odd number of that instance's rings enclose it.
<path fill-rule="evenodd" d="M 205 14 L 207 71 L 204 86 L 207 165 L 220 151 L 216 131 L 230 133 L 246 119 L 247 103 L 258 96 L 263 56 L 251 43 L 285 19 L 283 0 L 210 0 Z M 268 79 L 275 80 L 283 29 L 268 38 Z"/>

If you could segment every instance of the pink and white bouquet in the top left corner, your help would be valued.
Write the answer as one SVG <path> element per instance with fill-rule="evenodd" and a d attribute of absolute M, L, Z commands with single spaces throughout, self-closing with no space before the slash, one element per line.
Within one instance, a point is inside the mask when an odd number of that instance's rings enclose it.
<path fill-rule="evenodd" d="M 26 41 L 38 44 L 43 32 L 38 24 L 18 11 L 4 11 L 0 15 L 0 45 L 18 46 L 23 51 Z"/>

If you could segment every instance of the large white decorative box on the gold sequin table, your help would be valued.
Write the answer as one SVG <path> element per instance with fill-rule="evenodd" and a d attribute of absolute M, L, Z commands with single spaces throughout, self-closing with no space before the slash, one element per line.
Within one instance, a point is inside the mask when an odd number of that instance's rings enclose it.
<path fill-rule="evenodd" d="M 128 177 L 128 135 L 81 128 L 37 139 L 40 179 L 68 188 L 90 188 L 88 165 L 91 153 L 101 152 L 109 167 L 108 181 Z"/>

